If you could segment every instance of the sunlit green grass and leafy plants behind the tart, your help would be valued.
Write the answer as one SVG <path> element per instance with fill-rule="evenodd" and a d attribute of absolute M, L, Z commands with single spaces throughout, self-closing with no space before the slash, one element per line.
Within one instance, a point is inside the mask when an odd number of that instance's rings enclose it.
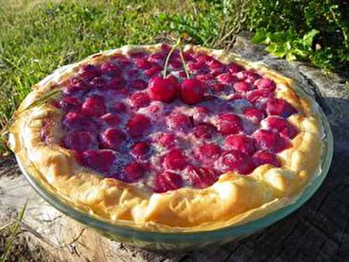
<path fill-rule="evenodd" d="M 183 32 L 193 43 L 229 48 L 235 34 L 247 29 L 279 57 L 348 71 L 346 5 L 340 0 L 302 5 L 298 0 L 0 0 L 0 130 L 31 87 L 55 68 L 100 50 L 158 43 Z M 305 18 L 298 22 L 301 11 Z M 0 141 L 0 152 L 4 149 Z"/>

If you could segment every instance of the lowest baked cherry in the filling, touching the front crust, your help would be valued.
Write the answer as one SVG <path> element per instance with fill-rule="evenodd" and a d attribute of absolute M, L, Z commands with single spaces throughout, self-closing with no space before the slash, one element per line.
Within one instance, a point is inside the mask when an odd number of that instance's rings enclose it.
<path fill-rule="evenodd" d="M 183 179 L 180 175 L 165 171 L 156 175 L 154 180 L 154 192 L 165 193 L 170 190 L 176 190 L 181 188 Z"/>

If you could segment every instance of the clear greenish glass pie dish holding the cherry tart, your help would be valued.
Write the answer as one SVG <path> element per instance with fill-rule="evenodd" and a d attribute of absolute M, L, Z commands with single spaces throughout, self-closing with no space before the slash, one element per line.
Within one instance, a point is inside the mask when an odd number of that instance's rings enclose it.
<path fill-rule="evenodd" d="M 304 90 L 297 88 L 297 93 L 307 96 Z M 82 224 L 93 228 L 102 235 L 105 235 L 111 240 L 117 242 L 127 242 L 137 247 L 147 249 L 197 249 L 205 247 L 207 245 L 215 244 L 221 245 L 225 242 L 244 238 L 247 235 L 256 233 L 267 226 L 274 224 L 276 221 L 287 217 L 288 214 L 294 212 L 300 208 L 306 201 L 315 194 L 315 191 L 320 187 L 323 180 L 328 173 L 329 166 L 332 161 L 332 155 L 334 150 L 334 142 L 332 131 L 329 126 L 324 112 L 322 112 L 320 106 L 309 98 L 313 105 L 318 109 L 318 115 L 323 126 L 323 143 L 324 150 L 322 154 L 322 163 L 320 166 L 320 172 L 315 175 L 315 178 L 304 189 L 302 194 L 297 200 L 275 212 L 267 214 L 265 217 L 250 221 L 246 224 L 237 226 L 228 226 L 219 228 L 212 231 L 197 231 L 190 233 L 161 233 L 144 231 L 138 228 L 131 228 L 120 224 L 113 224 L 101 217 L 96 217 L 87 212 L 79 210 L 75 206 L 69 203 L 66 199 L 63 199 L 56 194 L 50 188 L 44 186 L 38 178 L 31 172 L 30 163 L 23 163 L 17 157 L 17 162 L 22 170 L 22 173 L 27 177 L 27 180 L 32 187 L 38 192 L 38 194 L 45 199 L 54 208 L 57 208 L 60 212 L 66 214 L 68 217 L 79 221 Z"/>

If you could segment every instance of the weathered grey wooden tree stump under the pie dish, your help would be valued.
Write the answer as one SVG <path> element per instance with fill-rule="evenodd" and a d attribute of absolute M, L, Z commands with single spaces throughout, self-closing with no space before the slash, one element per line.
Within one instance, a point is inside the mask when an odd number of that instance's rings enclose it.
<path fill-rule="evenodd" d="M 43 201 L 15 160 L 0 160 L 0 226 L 13 221 L 28 200 L 12 261 L 349 261 L 349 86 L 337 75 L 276 59 L 238 36 L 233 51 L 296 80 L 327 114 L 335 140 L 332 168 L 302 208 L 265 231 L 222 247 L 192 252 L 151 252 L 113 242 L 78 224 Z M 0 235 L 0 252 L 4 235 Z M 27 258 L 27 260 L 26 260 Z"/>

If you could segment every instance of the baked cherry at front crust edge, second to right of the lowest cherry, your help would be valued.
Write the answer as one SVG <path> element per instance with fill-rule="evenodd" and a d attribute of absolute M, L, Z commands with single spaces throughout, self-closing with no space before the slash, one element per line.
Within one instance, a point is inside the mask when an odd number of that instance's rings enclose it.
<path fill-rule="evenodd" d="M 255 169 L 251 157 L 237 150 L 225 152 L 218 160 L 218 167 L 223 172 L 237 171 L 242 175 L 247 175 Z"/>

